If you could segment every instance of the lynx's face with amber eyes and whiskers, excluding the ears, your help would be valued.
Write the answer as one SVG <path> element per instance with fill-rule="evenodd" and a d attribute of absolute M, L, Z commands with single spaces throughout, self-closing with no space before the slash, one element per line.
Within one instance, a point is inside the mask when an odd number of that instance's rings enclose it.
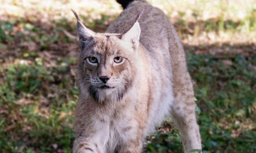
<path fill-rule="evenodd" d="M 120 100 L 132 84 L 136 50 L 126 44 L 116 35 L 98 34 L 82 50 L 80 87 L 96 101 Z"/>

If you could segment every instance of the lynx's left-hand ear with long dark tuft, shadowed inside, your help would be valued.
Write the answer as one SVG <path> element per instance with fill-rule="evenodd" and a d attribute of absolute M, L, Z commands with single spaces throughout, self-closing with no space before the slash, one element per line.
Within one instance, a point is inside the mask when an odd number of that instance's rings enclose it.
<path fill-rule="evenodd" d="M 76 11 L 74 11 L 73 9 L 72 9 L 72 11 L 77 19 L 76 28 L 77 28 L 77 33 L 79 36 L 80 48 L 83 51 L 84 48 L 93 40 L 95 33 L 93 31 L 91 31 L 90 29 L 86 28 L 82 24 L 78 15 L 76 14 Z"/>

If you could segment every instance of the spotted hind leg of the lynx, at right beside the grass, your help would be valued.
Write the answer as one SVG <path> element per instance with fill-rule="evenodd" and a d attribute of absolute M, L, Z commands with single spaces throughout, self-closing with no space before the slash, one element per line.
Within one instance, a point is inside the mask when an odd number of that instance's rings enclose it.
<path fill-rule="evenodd" d="M 174 89 L 175 99 L 171 115 L 180 131 L 185 153 L 189 153 L 193 149 L 201 150 L 201 138 L 196 123 L 194 91 L 188 72 L 185 78 L 176 84 L 176 89 Z"/>

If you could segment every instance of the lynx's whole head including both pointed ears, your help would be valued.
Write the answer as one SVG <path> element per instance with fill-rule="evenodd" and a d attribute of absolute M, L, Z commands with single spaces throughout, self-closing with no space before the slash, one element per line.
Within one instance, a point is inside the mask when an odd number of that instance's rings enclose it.
<path fill-rule="evenodd" d="M 80 94 L 96 101 L 119 101 L 136 75 L 140 25 L 138 21 L 124 34 L 94 33 L 77 18 L 80 41 L 78 86 Z M 137 17 L 138 18 L 138 17 Z"/>

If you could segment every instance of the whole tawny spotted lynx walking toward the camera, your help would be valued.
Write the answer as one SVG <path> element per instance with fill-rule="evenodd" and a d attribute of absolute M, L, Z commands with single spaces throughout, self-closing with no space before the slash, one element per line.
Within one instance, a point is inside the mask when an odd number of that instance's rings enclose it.
<path fill-rule="evenodd" d="M 73 11 L 81 48 L 73 153 L 140 153 L 144 138 L 169 114 L 184 151 L 201 149 L 194 91 L 174 26 L 145 1 L 125 7 L 106 33 L 86 28 Z"/>

